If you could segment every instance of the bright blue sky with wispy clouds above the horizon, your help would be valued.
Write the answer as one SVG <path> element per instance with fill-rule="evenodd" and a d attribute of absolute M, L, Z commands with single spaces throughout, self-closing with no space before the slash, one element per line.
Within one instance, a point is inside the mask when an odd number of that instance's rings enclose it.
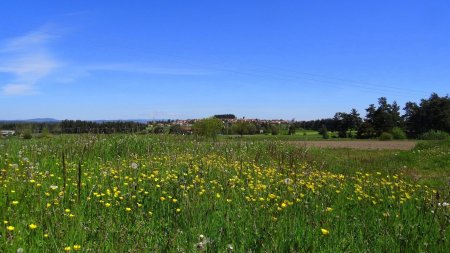
<path fill-rule="evenodd" d="M 0 1 L 0 119 L 310 120 L 450 88 L 450 1 Z"/>

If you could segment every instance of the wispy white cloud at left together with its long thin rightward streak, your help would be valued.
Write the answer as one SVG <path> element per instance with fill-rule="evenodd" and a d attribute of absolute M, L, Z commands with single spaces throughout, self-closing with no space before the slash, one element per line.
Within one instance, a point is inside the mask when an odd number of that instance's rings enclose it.
<path fill-rule="evenodd" d="M 97 62 L 86 59 L 57 59 L 52 42 L 60 29 L 43 26 L 22 36 L 0 40 L 0 94 L 7 96 L 39 94 L 39 85 L 72 83 L 111 72 L 143 75 L 197 76 L 212 72 L 145 62 Z"/>

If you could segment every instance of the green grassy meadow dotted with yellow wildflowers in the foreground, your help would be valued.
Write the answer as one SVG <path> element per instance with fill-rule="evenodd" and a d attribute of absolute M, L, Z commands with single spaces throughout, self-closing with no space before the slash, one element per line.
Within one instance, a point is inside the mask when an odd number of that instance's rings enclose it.
<path fill-rule="evenodd" d="M 448 251 L 449 140 L 292 141 L 0 140 L 0 252 Z"/>

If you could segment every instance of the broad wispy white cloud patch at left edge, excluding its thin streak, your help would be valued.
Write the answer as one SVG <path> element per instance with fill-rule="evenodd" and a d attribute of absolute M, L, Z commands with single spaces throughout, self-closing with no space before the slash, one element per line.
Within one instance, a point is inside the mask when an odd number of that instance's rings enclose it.
<path fill-rule="evenodd" d="M 3 94 L 37 93 L 38 83 L 61 65 L 49 48 L 54 38 L 44 27 L 0 44 L 0 72 L 9 77 L 0 83 Z"/>

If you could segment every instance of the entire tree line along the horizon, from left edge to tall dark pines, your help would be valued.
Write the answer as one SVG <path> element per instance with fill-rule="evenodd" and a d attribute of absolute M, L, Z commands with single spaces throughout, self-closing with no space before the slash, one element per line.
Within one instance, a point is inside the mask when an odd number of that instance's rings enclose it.
<path fill-rule="evenodd" d="M 214 137 L 217 134 L 294 134 L 297 130 L 316 130 L 324 138 L 328 132 L 337 133 L 340 138 L 380 138 L 391 135 L 392 138 L 420 138 L 430 131 L 450 133 L 450 98 L 432 93 L 420 103 L 407 102 L 401 114 L 400 106 L 394 101 L 389 103 L 386 97 L 378 103 L 370 104 L 364 117 L 356 109 L 350 112 L 336 112 L 334 117 L 294 121 L 288 124 L 273 124 L 263 120 L 236 120 L 234 114 L 220 114 L 208 119 L 192 121 L 192 127 L 180 126 L 173 121 L 144 124 L 131 121 L 93 122 L 82 120 L 64 120 L 49 123 L 0 122 L 0 129 L 16 130 L 18 133 L 154 133 L 154 134 L 198 134 Z"/>

